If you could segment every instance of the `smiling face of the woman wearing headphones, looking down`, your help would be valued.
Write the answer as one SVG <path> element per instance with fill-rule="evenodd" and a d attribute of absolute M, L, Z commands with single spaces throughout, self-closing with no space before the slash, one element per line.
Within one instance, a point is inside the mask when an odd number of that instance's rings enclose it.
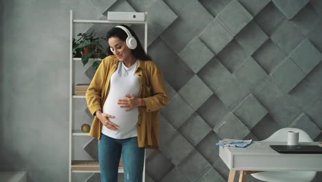
<path fill-rule="evenodd" d="M 109 47 L 111 48 L 111 52 L 113 52 L 120 61 L 129 60 L 133 57 L 131 50 L 127 48 L 127 43 L 118 37 L 109 38 Z"/>

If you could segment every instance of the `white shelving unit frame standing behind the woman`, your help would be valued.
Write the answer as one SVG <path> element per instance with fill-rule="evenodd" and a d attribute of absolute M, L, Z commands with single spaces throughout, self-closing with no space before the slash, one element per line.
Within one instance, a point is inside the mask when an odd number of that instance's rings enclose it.
<path fill-rule="evenodd" d="M 87 20 L 87 19 L 74 19 L 73 11 L 69 12 L 69 182 L 72 182 L 72 172 L 100 172 L 98 161 L 72 161 L 72 143 L 74 137 L 89 137 L 88 133 L 81 132 L 81 130 L 74 130 L 72 123 L 74 121 L 73 112 L 73 99 L 85 99 L 85 96 L 76 96 L 73 94 L 73 76 L 75 74 L 74 62 L 81 61 L 81 58 L 73 58 L 72 54 L 72 37 L 73 37 L 73 25 L 74 23 L 122 23 L 122 24 L 142 24 L 144 25 L 144 50 L 147 52 L 147 12 L 145 12 L 145 21 L 108 21 L 108 20 Z M 100 61 L 100 59 L 91 59 L 92 61 Z M 118 168 L 119 173 L 124 173 L 122 163 Z M 143 170 L 143 182 L 145 181 L 145 157 L 144 157 L 144 170 Z"/>

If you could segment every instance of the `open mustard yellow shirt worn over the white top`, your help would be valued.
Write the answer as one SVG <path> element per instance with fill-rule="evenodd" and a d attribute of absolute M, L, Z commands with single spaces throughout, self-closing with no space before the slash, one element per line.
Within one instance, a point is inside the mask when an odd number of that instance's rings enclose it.
<path fill-rule="evenodd" d="M 103 104 L 109 93 L 111 75 L 116 71 L 118 61 L 115 56 L 105 57 L 86 92 L 89 111 L 94 115 L 89 136 L 96 139 L 100 139 L 103 124 L 95 116 L 95 112 L 103 110 Z M 145 102 L 145 106 L 138 107 L 138 147 L 158 149 L 160 143 L 159 110 L 167 105 L 169 97 L 162 71 L 158 65 L 152 61 L 138 61 L 136 74 L 140 80 L 139 96 Z"/>

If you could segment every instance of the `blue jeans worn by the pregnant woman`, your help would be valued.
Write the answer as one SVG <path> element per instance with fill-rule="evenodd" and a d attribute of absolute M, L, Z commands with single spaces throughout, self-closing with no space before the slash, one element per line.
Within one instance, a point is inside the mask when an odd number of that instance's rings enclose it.
<path fill-rule="evenodd" d="M 113 139 L 102 133 L 98 141 L 100 181 L 118 182 L 118 164 L 122 154 L 124 181 L 141 182 L 144 151 L 144 148 L 138 148 L 138 137 Z"/>

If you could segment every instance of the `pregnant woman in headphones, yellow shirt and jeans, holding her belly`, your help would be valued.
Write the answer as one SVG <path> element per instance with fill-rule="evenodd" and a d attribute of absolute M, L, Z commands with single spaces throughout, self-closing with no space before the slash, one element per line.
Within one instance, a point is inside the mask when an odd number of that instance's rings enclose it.
<path fill-rule="evenodd" d="M 167 90 L 162 71 L 133 30 L 116 26 L 107 39 L 109 56 L 100 63 L 86 92 L 94 115 L 89 136 L 98 139 L 101 181 L 118 181 L 122 154 L 124 181 L 140 182 L 144 148 L 159 146 L 159 110 L 167 105 Z"/>

